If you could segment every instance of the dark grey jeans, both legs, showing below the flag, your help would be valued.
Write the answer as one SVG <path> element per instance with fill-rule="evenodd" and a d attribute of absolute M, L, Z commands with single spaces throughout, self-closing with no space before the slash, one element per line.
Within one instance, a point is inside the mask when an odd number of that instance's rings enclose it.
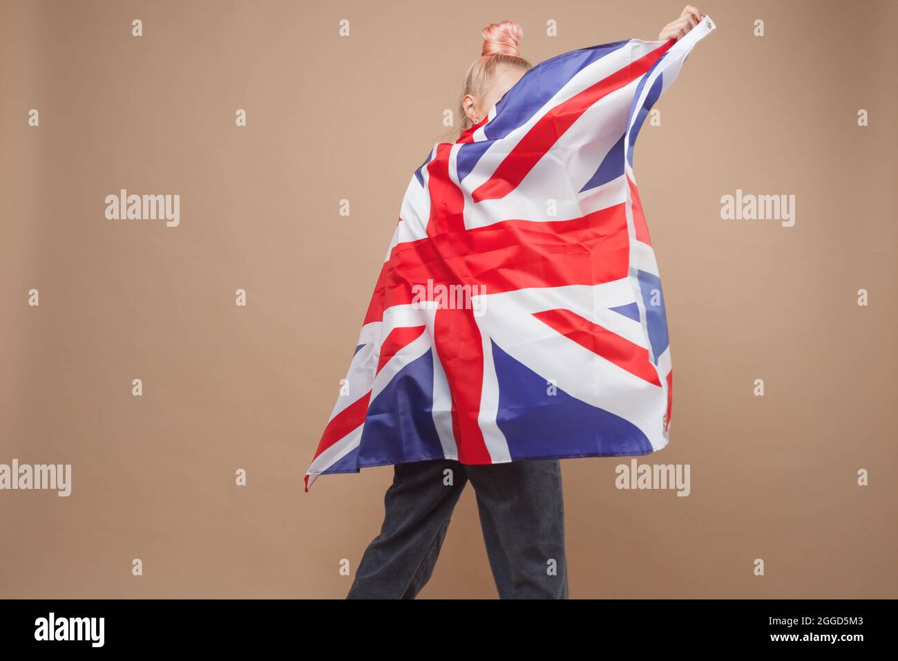
<path fill-rule="evenodd" d="M 447 484 L 446 470 L 452 471 Z M 564 505 L 557 460 L 464 466 L 399 464 L 381 532 L 365 549 L 348 599 L 414 599 L 433 574 L 449 520 L 470 480 L 499 597 L 567 599 Z"/>

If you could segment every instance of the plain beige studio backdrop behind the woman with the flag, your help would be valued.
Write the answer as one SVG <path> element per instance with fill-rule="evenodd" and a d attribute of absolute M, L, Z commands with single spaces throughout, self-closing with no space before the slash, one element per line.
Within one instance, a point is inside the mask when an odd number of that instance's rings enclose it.
<path fill-rule="evenodd" d="M 392 469 L 302 475 L 480 28 L 521 23 L 535 64 L 682 4 L 0 4 L 0 462 L 74 470 L 0 492 L 0 596 L 346 594 Z M 896 597 L 896 4 L 698 6 L 718 30 L 635 158 L 675 373 L 643 460 L 691 496 L 565 461 L 571 596 Z M 104 219 L 120 188 L 179 193 L 180 227 Z M 721 220 L 736 188 L 795 194 L 796 226 Z M 469 489 L 422 597 L 493 596 Z"/>

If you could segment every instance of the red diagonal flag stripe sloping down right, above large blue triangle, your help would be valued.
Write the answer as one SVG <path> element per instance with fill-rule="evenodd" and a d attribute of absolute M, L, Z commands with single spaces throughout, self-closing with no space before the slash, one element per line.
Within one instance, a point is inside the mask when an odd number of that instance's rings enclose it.
<path fill-rule="evenodd" d="M 607 328 L 594 324 L 570 310 L 546 310 L 534 313 L 533 317 L 551 326 L 569 340 L 629 371 L 633 376 L 661 387 L 658 372 L 649 359 L 648 350 L 638 344 L 633 344 L 627 338 L 612 333 Z"/>

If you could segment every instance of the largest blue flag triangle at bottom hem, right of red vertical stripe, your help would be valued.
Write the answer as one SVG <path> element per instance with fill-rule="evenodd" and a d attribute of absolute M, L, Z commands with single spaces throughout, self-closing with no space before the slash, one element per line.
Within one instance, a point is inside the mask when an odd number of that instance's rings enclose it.
<path fill-rule="evenodd" d="M 571 397 L 493 342 L 499 384 L 496 423 L 512 460 L 647 454 L 652 444 L 619 415 Z"/>

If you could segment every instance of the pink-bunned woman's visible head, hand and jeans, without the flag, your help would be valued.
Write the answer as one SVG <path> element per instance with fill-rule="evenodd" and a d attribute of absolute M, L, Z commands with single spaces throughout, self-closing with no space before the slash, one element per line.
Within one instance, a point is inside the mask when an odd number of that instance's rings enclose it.
<path fill-rule="evenodd" d="M 702 20 L 687 5 L 658 40 L 679 40 Z M 484 28 L 481 57 L 462 85 L 458 138 L 479 124 L 531 65 L 514 22 Z M 433 573 L 453 508 L 470 481 L 500 598 L 568 597 L 559 460 L 464 465 L 400 463 L 387 490 L 383 527 L 365 550 L 348 598 L 414 598 Z"/>

